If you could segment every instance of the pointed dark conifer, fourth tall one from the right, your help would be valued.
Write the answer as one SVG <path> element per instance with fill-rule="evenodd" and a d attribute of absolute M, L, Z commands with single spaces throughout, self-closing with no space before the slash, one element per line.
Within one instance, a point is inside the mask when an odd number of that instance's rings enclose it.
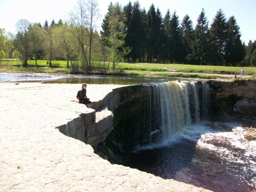
<path fill-rule="evenodd" d="M 180 32 L 182 36 L 182 43 L 184 46 L 184 63 L 187 64 L 189 60 L 185 58 L 192 53 L 192 50 L 189 44 L 193 39 L 193 22 L 192 20 L 190 20 L 190 17 L 188 16 L 188 14 L 186 14 L 183 17 L 183 20 L 180 25 L 181 25 Z"/>

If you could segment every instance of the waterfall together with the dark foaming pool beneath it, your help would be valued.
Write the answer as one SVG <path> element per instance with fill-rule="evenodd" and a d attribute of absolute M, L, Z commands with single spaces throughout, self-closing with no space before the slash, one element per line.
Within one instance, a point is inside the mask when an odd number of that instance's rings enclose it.
<path fill-rule="evenodd" d="M 145 85 L 141 94 L 150 136 L 160 139 L 137 146 L 126 166 L 216 192 L 256 191 L 256 141 L 245 140 L 239 124 L 202 121 L 206 82 Z"/>

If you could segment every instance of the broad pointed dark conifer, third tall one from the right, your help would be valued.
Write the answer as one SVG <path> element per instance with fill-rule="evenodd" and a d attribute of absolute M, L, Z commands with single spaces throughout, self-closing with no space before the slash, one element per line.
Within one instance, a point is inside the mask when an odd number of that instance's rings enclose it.
<path fill-rule="evenodd" d="M 197 64 L 206 65 L 210 62 L 210 43 L 209 43 L 209 21 L 205 16 L 204 9 L 197 18 L 197 24 L 194 31 L 194 38 L 190 42 L 192 54 L 189 54 L 188 60 L 196 60 Z"/>

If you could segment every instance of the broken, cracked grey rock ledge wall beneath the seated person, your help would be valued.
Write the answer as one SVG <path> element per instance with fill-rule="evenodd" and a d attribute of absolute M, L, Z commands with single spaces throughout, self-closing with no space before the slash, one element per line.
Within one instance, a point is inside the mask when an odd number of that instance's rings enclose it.
<path fill-rule="evenodd" d="M 103 142 L 113 127 L 113 109 L 124 102 L 139 97 L 140 85 L 124 86 L 113 89 L 103 99 L 92 102 L 95 111 L 81 114 L 76 119 L 57 127 L 61 133 L 81 140 L 92 146 Z"/>

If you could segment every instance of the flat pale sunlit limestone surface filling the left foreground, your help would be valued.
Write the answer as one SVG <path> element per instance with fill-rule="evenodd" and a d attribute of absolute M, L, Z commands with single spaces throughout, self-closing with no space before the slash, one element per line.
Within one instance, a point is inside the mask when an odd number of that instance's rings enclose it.
<path fill-rule="evenodd" d="M 112 165 L 90 145 L 55 129 L 93 111 L 76 102 L 80 84 L 0 84 L 0 191 L 208 191 Z M 122 85 L 88 85 L 101 100 Z"/>

